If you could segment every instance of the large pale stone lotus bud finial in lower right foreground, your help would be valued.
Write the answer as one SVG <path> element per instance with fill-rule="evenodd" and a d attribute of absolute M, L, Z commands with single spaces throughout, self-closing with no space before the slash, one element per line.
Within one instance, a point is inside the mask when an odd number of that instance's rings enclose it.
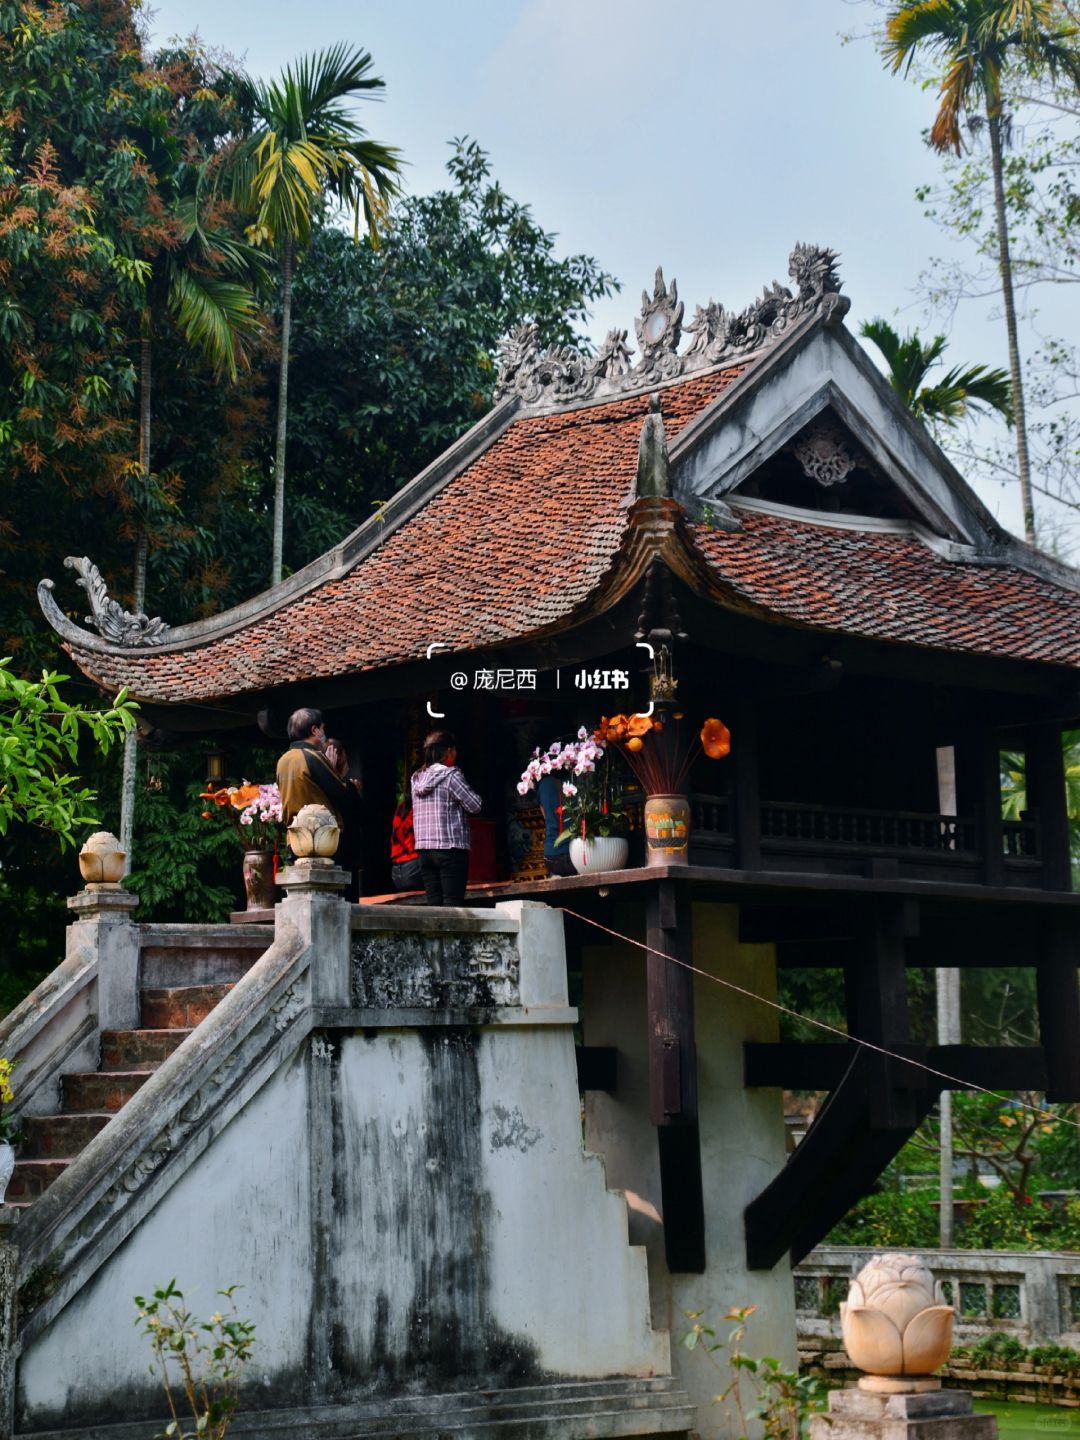
<path fill-rule="evenodd" d="M 840 1308 L 844 1346 L 871 1377 L 937 1369 L 952 1349 L 952 1306 L 919 1256 L 876 1256 Z"/>

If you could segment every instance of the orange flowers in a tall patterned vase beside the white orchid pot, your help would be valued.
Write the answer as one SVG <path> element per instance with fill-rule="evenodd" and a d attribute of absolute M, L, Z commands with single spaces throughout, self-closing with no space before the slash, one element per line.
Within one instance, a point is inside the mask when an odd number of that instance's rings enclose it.
<path fill-rule="evenodd" d="M 615 746 L 645 791 L 645 864 L 685 865 L 690 855 L 690 796 L 685 782 L 698 753 L 723 759 L 732 736 L 723 720 L 708 719 L 693 739 L 674 703 L 660 701 L 651 716 L 600 716 L 595 739 Z"/>

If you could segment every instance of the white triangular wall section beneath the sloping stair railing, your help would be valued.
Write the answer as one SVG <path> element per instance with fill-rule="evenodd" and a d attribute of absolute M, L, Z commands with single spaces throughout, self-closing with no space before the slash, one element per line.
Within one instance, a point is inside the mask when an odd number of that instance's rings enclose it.
<path fill-rule="evenodd" d="M 258 1326 L 261 1404 L 302 1394 L 312 1302 L 307 1061 L 259 1092 L 223 1135 L 23 1352 L 19 1430 L 161 1411 L 132 1296 L 176 1279 L 196 1315 L 242 1284 Z"/>

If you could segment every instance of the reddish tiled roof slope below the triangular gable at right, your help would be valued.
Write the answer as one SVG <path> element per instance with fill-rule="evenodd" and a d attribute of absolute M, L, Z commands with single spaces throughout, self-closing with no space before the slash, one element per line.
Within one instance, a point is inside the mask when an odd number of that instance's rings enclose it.
<path fill-rule="evenodd" d="M 693 526 L 716 576 L 785 621 L 873 639 L 1080 665 L 1080 593 L 1009 564 L 948 560 L 910 534 L 742 511 Z"/>

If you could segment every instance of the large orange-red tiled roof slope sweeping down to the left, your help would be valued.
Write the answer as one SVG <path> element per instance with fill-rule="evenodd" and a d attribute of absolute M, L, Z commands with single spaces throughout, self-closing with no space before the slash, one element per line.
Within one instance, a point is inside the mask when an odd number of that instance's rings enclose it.
<path fill-rule="evenodd" d="M 670 439 L 744 366 L 661 390 Z M 482 649 L 570 615 L 619 553 L 648 397 L 521 416 L 348 573 L 204 642 L 163 654 L 71 647 L 104 685 L 206 701 Z"/>

